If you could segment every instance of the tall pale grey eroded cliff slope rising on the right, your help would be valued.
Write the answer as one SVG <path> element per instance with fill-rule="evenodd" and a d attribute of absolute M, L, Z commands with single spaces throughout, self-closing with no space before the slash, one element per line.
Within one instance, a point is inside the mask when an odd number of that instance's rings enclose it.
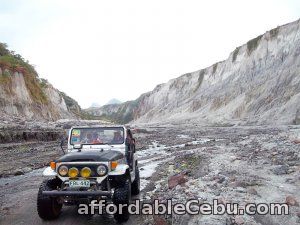
<path fill-rule="evenodd" d="M 300 20 L 250 40 L 225 61 L 158 85 L 128 111 L 133 123 L 299 123 Z"/>

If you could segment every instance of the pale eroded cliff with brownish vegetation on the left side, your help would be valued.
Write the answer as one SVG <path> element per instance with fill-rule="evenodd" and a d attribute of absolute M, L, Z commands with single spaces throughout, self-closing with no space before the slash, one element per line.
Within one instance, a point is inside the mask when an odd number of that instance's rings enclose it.
<path fill-rule="evenodd" d="M 38 77 L 0 68 L 0 115 L 2 119 L 57 120 L 75 118 L 61 93 Z M 31 75 L 29 75 L 31 76 Z"/>

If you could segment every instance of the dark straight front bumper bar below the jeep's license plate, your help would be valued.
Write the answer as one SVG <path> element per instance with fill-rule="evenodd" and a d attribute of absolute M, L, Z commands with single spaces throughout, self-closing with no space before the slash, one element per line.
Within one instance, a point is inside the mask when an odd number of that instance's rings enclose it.
<path fill-rule="evenodd" d="M 43 195 L 47 196 L 79 196 L 79 197 L 88 197 L 88 196 L 105 196 L 112 198 L 112 191 L 43 191 Z"/>

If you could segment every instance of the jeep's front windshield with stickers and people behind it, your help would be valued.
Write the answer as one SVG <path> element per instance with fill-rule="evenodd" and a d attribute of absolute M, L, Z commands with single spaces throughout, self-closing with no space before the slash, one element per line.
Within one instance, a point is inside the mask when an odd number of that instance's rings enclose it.
<path fill-rule="evenodd" d="M 73 128 L 71 131 L 70 144 L 104 145 L 123 144 L 123 127 L 93 127 Z"/>

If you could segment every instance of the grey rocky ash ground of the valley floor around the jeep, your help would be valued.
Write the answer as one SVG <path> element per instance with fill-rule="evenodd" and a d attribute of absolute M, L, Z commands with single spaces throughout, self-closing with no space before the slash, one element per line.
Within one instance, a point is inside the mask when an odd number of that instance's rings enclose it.
<path fill-rule="evenodd" d="M 136 198 L 145 202 L 172 199 L 173 203 L 218 199 L 240 205 L 288 202 L 290 215 L 132 216 L 127 224 L 300 224 L 300 127 L 141 127 L 135 137 L 143 187 Z M 27 167 L 28 161 L 42 165 L 40 160 L 58 156 L 56 146 L 40 143 L 39 150 L 32 156 L 29 151 L 26 157 L 14 148 L 1 154 L 9 157 L 12 167 Z M 3 165 L 1 169 L 9 163 Z M 41 171 L 0 179 L 1 224 L 44 223 L 35 211 Z M 175 184 L 180 183 L 175 186 L 170 182 L 174 176 Z M 114 221 L 103 216 L 80 217 L 68 207 L 61 218 L 47 224 Z"/>

